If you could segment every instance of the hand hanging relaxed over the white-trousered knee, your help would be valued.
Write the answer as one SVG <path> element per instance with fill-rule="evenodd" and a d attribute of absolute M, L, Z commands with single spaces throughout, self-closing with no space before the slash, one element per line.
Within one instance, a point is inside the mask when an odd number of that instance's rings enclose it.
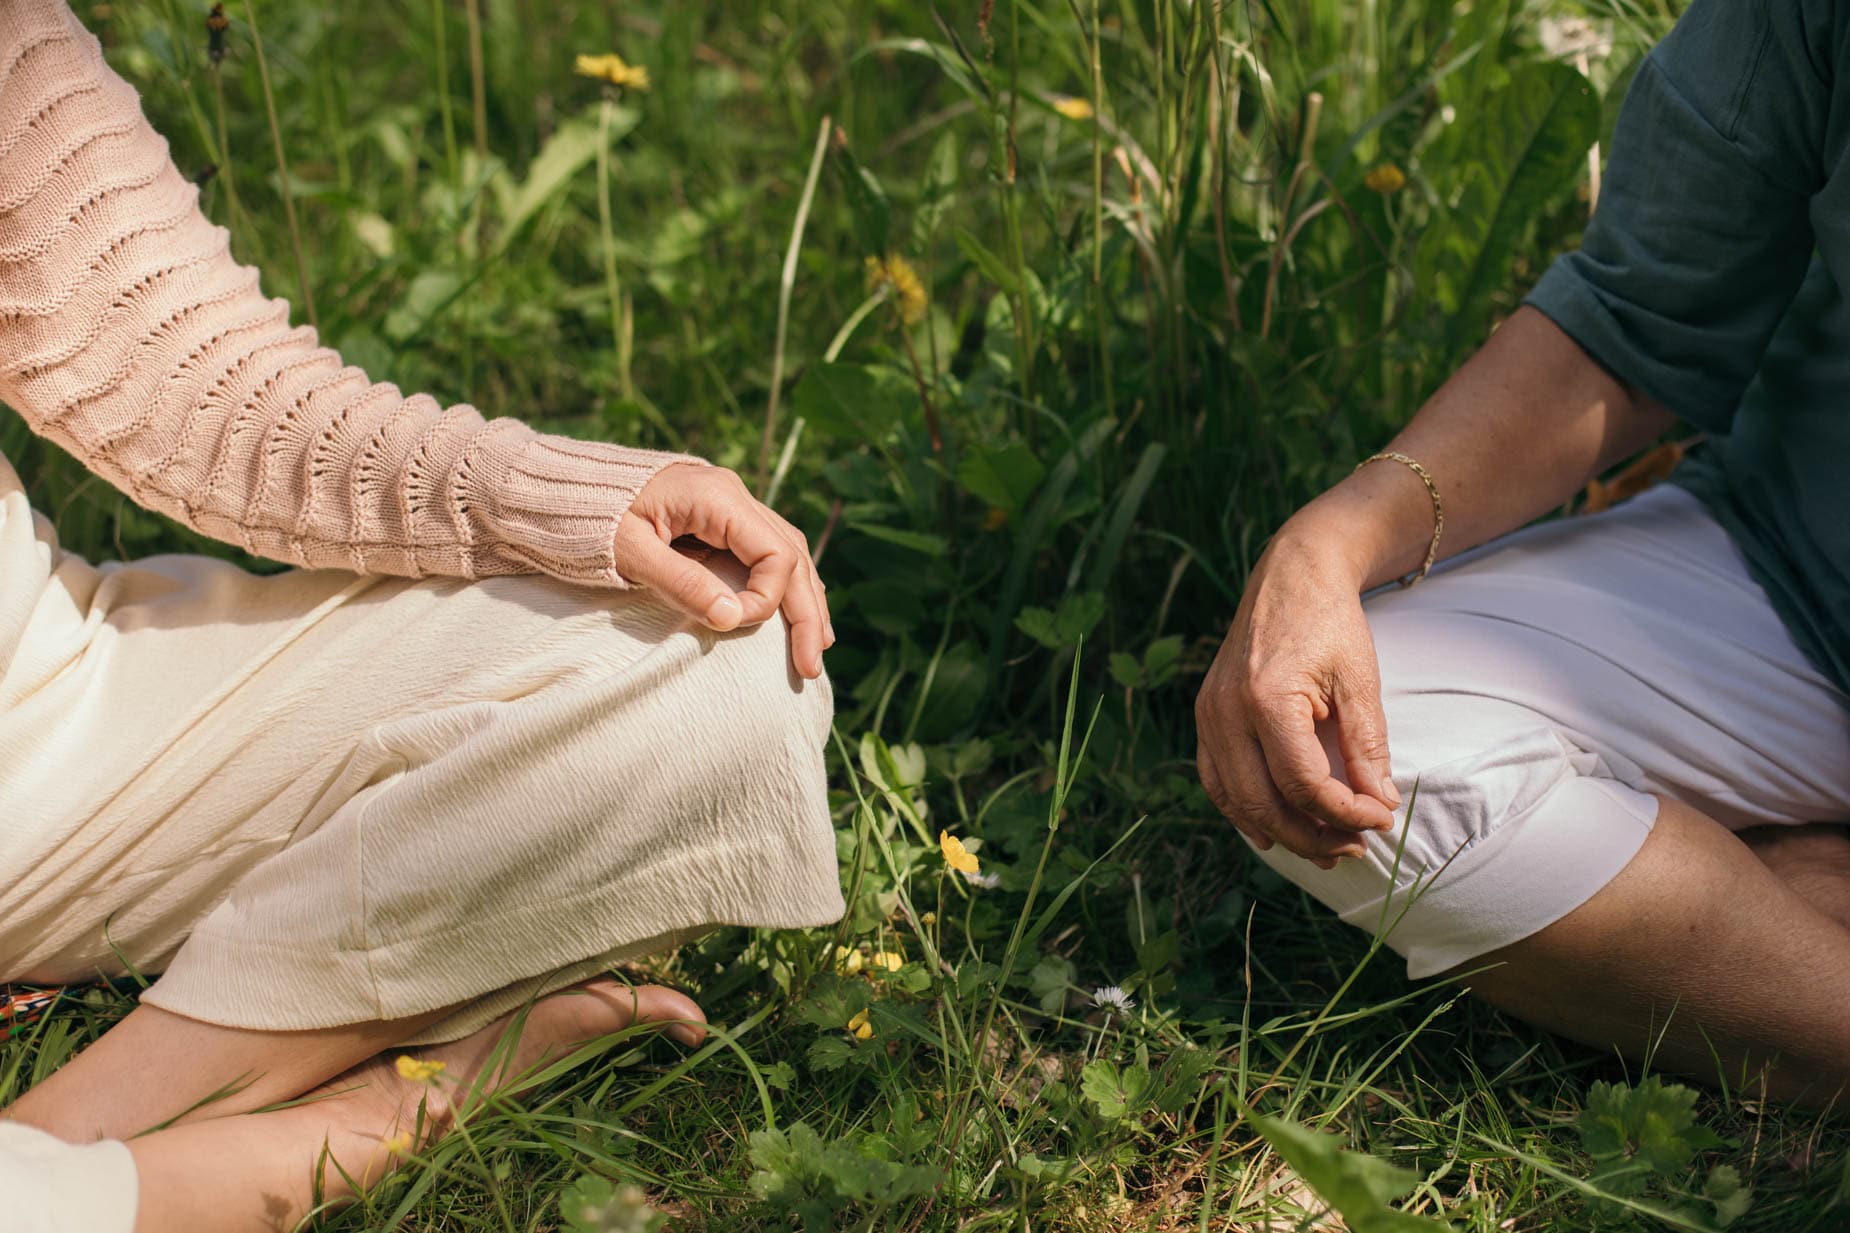
<path fill-rule="evenodd" d="M 1388 766 L 1363 570 L 1328 533 L 1286 524 L 1260 557 L 1232 629 L 1195 698 L 1201 783 L 1264 852 L 1282 842 L 1323 868 L 1362 855 L 1360 831 L 1391 829 Z M 1336 720 L 1350 791 L 1332 776 L 1317 724 Z"/>

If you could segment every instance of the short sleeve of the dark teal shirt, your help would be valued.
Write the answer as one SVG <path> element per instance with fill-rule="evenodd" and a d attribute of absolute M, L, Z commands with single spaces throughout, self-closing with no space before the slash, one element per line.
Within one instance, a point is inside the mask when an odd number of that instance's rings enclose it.
<path fill-rule="evenodd" d="M 1580 250 L 1526 300 L 1711 431 L 1728 431 L 1811 257 L 1833 7 L 1695 0 L 1639 67 Z"/>

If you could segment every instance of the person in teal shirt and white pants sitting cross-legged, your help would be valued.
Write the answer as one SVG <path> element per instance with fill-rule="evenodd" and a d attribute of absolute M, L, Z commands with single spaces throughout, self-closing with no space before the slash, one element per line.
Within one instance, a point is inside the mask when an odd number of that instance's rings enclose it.
<path fill-rule="evenodd" d="M 1695 0 L 1582 248 L 1254 568 L 1197 720 L 1262 857 L 1412 978 L 1837 1100 L 1846 289 L 1843 6 Z M 1510 533 L 1678 420 L 1709 442 L 1672 483 Z"/>

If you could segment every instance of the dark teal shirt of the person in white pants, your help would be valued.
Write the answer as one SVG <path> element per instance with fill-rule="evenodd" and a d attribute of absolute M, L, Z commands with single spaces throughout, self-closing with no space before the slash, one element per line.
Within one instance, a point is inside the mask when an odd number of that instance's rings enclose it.
<path fill-rule="evenodd" d="M 1837 89 L 1844 81 L 1844 89 Z M 1850 4 L 1695 0 L 1528 304 L 1713 433 L 1674 480 L 1850 691 Z"/>

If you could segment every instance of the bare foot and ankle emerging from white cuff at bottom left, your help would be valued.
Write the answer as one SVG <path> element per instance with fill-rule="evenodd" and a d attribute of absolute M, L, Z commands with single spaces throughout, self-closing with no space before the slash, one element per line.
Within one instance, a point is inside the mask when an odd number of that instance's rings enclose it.
<path fill-rule="evenodd" d="M 209 1118 L 130 1142 L 141 1176 L 135 1233 L 257 1233 L 294 1229 L 316 1202 L 350 1194 L 342 1172 L 363 1187 L 396 1163 L 392 1137 L 418 1126 L 424 1102 L 435 1115 L 426 1142 L 450 1126 L 451 1103 L 468 1109 L 464 1089 L 500 1087 L 549 1057 L 640 1022 L 692 1020 L 670 1028 L 684 1042 L 701 1039 L 699 1007 L 660 989 L 594 981 L 542 998 L 522 1026 L 507 1072 L 483 1074 L 512 1016 L 453 1044 L 420 1050 L 444 1063 L 435 1085 L 401 1077 L 396 1052 L 339 1076 L 326 1098 L 276 1113 Z M 324 1163 L 324 1153 L 327 1161 Z"/>

